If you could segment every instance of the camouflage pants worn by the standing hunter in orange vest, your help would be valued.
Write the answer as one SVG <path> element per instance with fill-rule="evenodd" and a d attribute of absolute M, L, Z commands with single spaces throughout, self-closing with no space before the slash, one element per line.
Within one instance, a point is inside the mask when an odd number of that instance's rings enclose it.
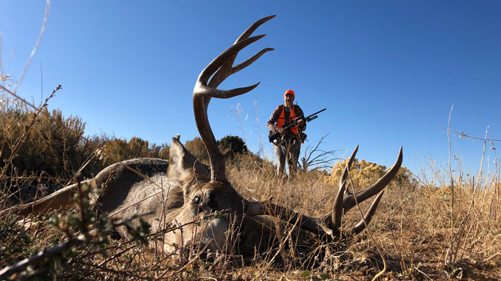
<path fill-rule="evenodd" d="M 285 160 L 289 165 L 289 176 L 294 176 L 301 152 L 301 142 L 297 137 L 285 137 L 280 142 L 278 140 L 273 142 L 273 151 L 277 157 L 277 177 L 285 176 Z"/>

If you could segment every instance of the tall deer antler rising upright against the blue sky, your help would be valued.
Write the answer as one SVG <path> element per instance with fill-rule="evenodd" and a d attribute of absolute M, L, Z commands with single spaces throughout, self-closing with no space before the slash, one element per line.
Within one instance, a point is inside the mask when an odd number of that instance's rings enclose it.
<path fill-rule="evenodd" d="M 207 153 L 209 154 L 211 181 L 226 182 L 227 180 L 225 176 L 225 155 L 221 153 L 217 146 L 216 138 L 214 137 L 214 133 L 212 133 L 212 128 L 210 127 L 209 119 L 207 118 L 207 108 L 209 107 L 209 102 L 211 98 L 229 99 L 233 96 L 245 94 L 260 84 L 256 83 L 248 87 L 241 87 L 233 90 L 217 89 L 218 85 L 220 85 L 223 80 L 228 78 L 228 76 L 244 69 L 245 67 L 248 67 L 267 51 L 273 51 L 272 48 L 263 49 L 253 57 L 248 58 L 248 60 L 233 67 L 233 62 L 241 49 L 244 49 L 249 44 L 260 40 L 265 36 L 257 35 L 255 37 L 249 37 L 250 34 L 252 34 L 261 24 L 264 24 L 264 22 L 269 21 L 269 19 L 273 19 L 273 17 L 275 16 L 272 15 L 265 17 L 264 19 L 260 19 L 247 28 L 247 30 L 240 35 L 237 41 L 230 46 L 230 48 L 223 51 L 223 53 L 212 60 L 212 62 L 210 62 L 209 65 L 202 70 L 200 76 L 198 76 L 195 88 L 193 89 L 193 114 L 195 114 L 198 133 L 200 133 L 200 137 L 202 137 L 205 147 L 207 148 Z M 210 78 L 211 76 L 212 78 Z"/>

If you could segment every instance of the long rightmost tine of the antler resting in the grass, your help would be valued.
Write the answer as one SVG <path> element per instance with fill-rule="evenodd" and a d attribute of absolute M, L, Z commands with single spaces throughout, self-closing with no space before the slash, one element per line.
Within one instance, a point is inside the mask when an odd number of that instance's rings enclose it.
<path fill-rule="evenodd" d="M 403 158 L 404 154 L 402 152 L 402 148 L 400 147 L 397 162 L 395 162 L 393 167 L 388 172 L 386 172 L 384 176 L 382 176 L 376 183 L 374 183 L 374 185 L 363 191 L 357 192 L 356 194 L 349 194 L 344 197 L 344 202 L 343 202 L 344 212 L 348 212 L 348 210 L 350 210 L 353 206 L 356 205 L 355 196 L 357 198 L 358 203 L 360 203 L 367 200 L 367 198 L 370 198 L 381 192 L 381 190 L 383 190 L 386 187 L 386 185 L 390 183 L 390 181 L 395 177 L 395 175 L 397 175 L 397 172 L 400 169 Z"/>

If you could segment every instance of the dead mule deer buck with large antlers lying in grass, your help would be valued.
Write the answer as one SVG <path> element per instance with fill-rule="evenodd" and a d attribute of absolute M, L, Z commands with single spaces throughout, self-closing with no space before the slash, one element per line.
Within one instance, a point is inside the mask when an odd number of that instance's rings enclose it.
<path fill-rule="evenodd" d="M 260 40 L 264 35 L 250 35 L 273 16 L 260 19 L 240 35 L 237 41 L 223 51 L 203 69 L 196 80 L 193 90 L 193 114 L 196 126 L 209 154 L 210 167 L 198 162 L 196 157 L 181 144 L 180 137 L 173 137 L 170 146 L 170 159 L 159 160 L 138 158 L 127 160 L 106 167 L 93 179 L 86 180 L 93 187 L 101 187 L 102 194 L 94 195 L 94 204 L 109 217 L 125 217 L 132 214 L 146 213 L 143 219 L 150 223 L 152 232 L 162 230 L 172 223 L 184 225 L 182 231 L 168 232 L 164 235 L 164 250 L 175 250 L 176 246 L 200 247 L 218 250 L 223 247 L 228 237 L 230 225 L 236 222 L 240 244 L 252 244 L 253 237 L 260 233 L 249 227 L 252 218 L 260 215 L 278 216 L 288 223 L 294 223 L 303 230 L 326 237 L 340 239 L 349 233 L 357 234 L 369 223 L 376 207 L 383 196 L 383 189 L 396 175 L 402 162 L 400 148 L 397 162 L 374 185 L 351 194 L 347 191 L 348 171 L 358 150 L 355 148 L 347 167 L 340 179 L 339 191 L 333 201 L 332 211 L 324 217 L 305 216 L 290 210 L 286 206 L 271 202 L 251 202 L 240 196 L 225 176 L 225 154 L 219 150 L 212 128 L 207 118 L 207 109 L 212 98 L 229 99 L 253 90 L 259 83 L 233 90 L 218 90 L 217 87 L 228 76 L 234 74 L 273 49 L 263 49 L 255 56 L 233 66 L 237 53 L 249 44 Z M 35 203 L 19 205 L 4 212 L 18 212 L 22 215 L 47 212 L 70 205 L 77 185 L 70 185 L 56 191 Z M 365 218 L 351 230 L 341 229 L 342 216 L 356 203 L 376 196 Z M 227 212 L 227 216 L 211 216 L 214 212 Z M 198 219 L 198 223 L 189 223 Z M 252 220 L 251 220 L 252 219 Z M 364 222 L 365 221 L 365 222 Z M 132 221 L 138 223 L 137 221 Z M 120 235 L 128 237 L 127 231 L 119 229 Z"/>

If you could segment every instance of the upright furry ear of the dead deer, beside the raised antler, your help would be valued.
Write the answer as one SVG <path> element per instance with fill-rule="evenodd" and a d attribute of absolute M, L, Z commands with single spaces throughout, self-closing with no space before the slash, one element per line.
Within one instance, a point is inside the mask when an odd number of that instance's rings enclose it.
<path fill-rule="evenodd" d="M 167 175 L 181 186 L 194 179 L 209 182 L 210 168 L 191 155 L 181 144 L 180 135 L 177 135 L 170 144 Z"/>

